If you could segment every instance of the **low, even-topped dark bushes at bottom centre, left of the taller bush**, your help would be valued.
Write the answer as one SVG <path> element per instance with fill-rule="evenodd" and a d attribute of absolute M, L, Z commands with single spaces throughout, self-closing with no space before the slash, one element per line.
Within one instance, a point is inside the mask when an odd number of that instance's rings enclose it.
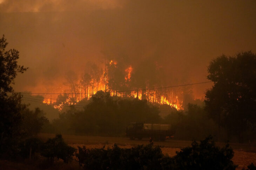
<path fill-rule="evenodd" d="M 159 146 L 139 145 L 122 149 L 114 144 L 112 149 L 86 149 L 85 146 L 78 149 L 76 157 L 84 169 L 161 169 L 163 154 Z"/>

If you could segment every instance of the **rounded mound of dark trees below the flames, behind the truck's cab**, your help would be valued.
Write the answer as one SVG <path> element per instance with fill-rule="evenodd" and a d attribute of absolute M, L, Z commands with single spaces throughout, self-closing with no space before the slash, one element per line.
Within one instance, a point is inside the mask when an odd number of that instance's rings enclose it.
<path fill-rule="evenodd" d="M 90 98 L 83 111 L 73 105 L 46 125 L 45 130 L 52 133 L 123 136 L 128 123 L 136 121 L 160 123 L 159 108 L 147 100 L 111 97 L 109 93 L 99 92 Z"/>

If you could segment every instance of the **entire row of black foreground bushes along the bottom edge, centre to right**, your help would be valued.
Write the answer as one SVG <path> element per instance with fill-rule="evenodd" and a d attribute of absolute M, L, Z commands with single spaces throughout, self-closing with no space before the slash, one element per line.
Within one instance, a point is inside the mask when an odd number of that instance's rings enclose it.
<path fill-rule="evenodd" d="M 191 147 L 183 148 L 174 157 L 163 155 L 159 146 L 139 145 L 130 149 L 79 148 L 76 157 L 84 169 L 154 169 L 154 170 L 234 170 L 231 158 L 234 153 L 227 144 L 223 148 L 215 146 L 212 137 L 207 137 L 200 144 L 193 141 Z"/>

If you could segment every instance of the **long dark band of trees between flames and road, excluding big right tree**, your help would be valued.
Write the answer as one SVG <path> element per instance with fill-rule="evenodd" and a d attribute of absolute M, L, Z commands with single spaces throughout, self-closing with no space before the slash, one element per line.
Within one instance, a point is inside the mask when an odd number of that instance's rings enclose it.
<path fill-rule="evenodd" d="M 178 111 L 168 105 L 154 105 L 147 100 L 111 97 L 109 93 L 96 93 L 81 111 L 75 105 L 59 114 L 58 119 L 43 126 L 42 132 L 77 135 L 124 136 L 130 122 L 171 124 L 175 139 L 203 139 L 212 134 L 216 139 L 228 140 L 227 130 L 218 125 L 204 107 L 189 104 L 187 111 Z M 79 105 L 79 104 L 78 104 Z M 169 108 L 165 117 L 159 115 L 161 108 Z M 237 141 L 236 138 L 233 140 Z"/>

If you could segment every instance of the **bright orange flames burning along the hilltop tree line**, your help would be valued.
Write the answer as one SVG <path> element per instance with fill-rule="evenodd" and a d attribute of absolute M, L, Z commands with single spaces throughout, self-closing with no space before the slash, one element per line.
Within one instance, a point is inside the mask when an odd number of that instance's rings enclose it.
<path fill-rule="evenodd" d="M 117 67 L 117 62 L 114 62 L 111 60 L 109 62 L 109 65 L 113 65 Z M 125 77 L 124 81 L 127 85 L 131 82 L 131 76 L 132 76 L 132 65 L 130 65 L 127 69 L 124 70 Z M 95 94 L 98 91 L 102 92 L 109 92 L 111 96 L 117 96 L 117 97 L 134 97 L 138 98 L 140 100 L 148 100 L 151 103 L 159 103 L 159 104 L 166 104 L 171 107 L 175 107 L 176 109 L 180 110 L 182 109 L 182 101 L 178 100 L 177 95 L 173 94 L 173 91 L 163 91 L 163 90 L 154 90 L 154 89 L 147 89 L 149 87 L 146 87 L 144 90 L 135 90 L 135 91 L 127 91 L 127 92 L 119 92 L 116 89 L 113 89 L 113 87 L 109 86 L 109 80 L 108 80 L 108 71 L 105 69 L 102 73 L 99 74 L 99 77 L 91 77 L 89 80 L 76 80 L 76 82 L 72 82 L 69 84 L 69 89 L 65 87 L 61 87 L 61 93 L 67 93 L 66 98 L 57 102 L 56 99 L 52 99 L 52 95 L 47 96 L 50 99 L 44 100 L 43 103 L 45 104 L 52 104 L 54 108 L 61 109 L 64 106 L 69 105 L 75 105 L 79 101 L 83 99 L 90 99 L 93 94 Z M 46 97 L 45 96 L 45 97 Z M 63 96 L 64 97 L 64 96 Z M 55 97 L 56 98 L 56 97 Z"/>

